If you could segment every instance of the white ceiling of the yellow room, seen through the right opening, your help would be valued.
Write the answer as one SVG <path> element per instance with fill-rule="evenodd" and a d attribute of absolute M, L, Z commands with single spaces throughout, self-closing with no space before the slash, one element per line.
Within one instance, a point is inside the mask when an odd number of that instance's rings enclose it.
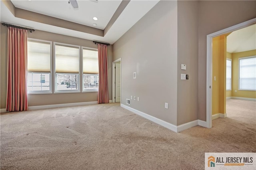
<path fill-rule="evenodd" d="M 256 49 L 256 24 L 236 30 L 227 36 L 227 51 L 238 53 Z"/>

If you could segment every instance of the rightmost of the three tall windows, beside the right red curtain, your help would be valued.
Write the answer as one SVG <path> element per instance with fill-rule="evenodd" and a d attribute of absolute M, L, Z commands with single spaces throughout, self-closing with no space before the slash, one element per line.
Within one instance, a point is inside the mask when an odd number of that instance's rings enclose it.
<path fill-rule="evenodd" d="M 82 49 L 83 55 L 83 91 L 98 91 L 99 67 L 98 50 Z"/>

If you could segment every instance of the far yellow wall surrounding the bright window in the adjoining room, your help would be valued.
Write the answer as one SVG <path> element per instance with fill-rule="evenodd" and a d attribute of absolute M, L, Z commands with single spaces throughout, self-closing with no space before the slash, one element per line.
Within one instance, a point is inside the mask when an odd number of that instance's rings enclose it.
<path fill-rule="evenodd" d="M 256 98 L 256 91 L 239 90 L 238 74 L 239 74 L 239 59 L 241 57 L 249 57 L 256 55 L 256 50 L 232 53 L 232 97 Z M 237 92 L 235 92 L 235 90 Z"/>

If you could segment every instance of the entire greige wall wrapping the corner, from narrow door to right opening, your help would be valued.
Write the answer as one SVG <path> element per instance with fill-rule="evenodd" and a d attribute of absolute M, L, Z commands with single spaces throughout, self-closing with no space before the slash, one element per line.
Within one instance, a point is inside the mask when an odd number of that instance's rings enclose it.
<path fill-rule="evenodd" d="M 206 121 L 206 36 L 255 17 L 256 1 L 160 1 L 113 45 L 122 104 L 135 95 L 130 107 L 173 125 Z"/>

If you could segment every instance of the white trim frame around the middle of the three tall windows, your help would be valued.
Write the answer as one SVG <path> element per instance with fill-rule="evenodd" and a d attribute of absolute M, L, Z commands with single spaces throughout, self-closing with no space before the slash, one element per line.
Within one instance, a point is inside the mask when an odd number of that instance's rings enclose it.
<path fill-rule="evenodd" d="M 79 68 L 78 68 L 78 81 L 81 82 L 81 46 L 80 45 L 72 45 L 72 44 L 67 44 L 67 43 L 59 43 L 59 42 L 53 42 L 53 54 L 54 54 L 54 57 L 53 57 L 53 76 L 54 77 L 54 86 L 53 86 L 53 93 L 57 94 L 57 93 L 80 93 L 81 92 L 81 83 L 78 82 L 78 89 L 77 90 L 56 90 L 56 85 L 57 85 L 57 81 L 56 81 L 56 71 L 55 71 L 55 45 L 64 45 L 64 46 L 69 46 L 69 47 L 78 47 L 79 48 Z M 59 73 L 61 74 L 61 73 Z M 63 73 L 64 74 L 64 73 Z M 65 73 L 65 74 L 68 74 L 68 73 Z M 72 74 L 72 73 L 70 73 Z"/>

